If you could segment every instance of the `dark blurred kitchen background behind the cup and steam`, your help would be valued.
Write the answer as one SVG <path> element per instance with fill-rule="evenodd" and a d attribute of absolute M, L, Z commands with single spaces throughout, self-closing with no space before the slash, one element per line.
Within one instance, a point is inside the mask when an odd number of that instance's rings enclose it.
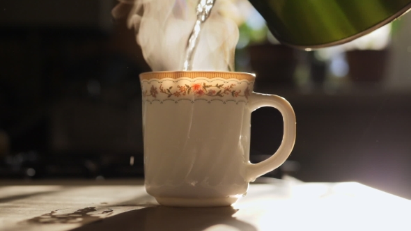
<path fill-rule="evenodd" d="M 114 0 L 0 1 L 0 179 L 143 177 L 139 74 L 150 71 Z M 269 177 L 356 181 L 411 199 L 411 14 L 350 44 L 279 45 L 244 3 L 236 69 L 297 116 L 289 160 Z M 238 9 L 237 9 L 238 10 Z M 238 13 L 241 13 L 239 17 Z M 251 161 L 282 138 L 252 116 Z"/>

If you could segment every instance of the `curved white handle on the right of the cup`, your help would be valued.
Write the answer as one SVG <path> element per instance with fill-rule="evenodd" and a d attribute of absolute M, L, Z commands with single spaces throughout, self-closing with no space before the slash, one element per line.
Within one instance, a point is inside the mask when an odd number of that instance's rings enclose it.
<path fill-rule="evenodd" d="M 268 173 L 283 164 L 293 150 L 295 143 L 295 113 L 290 103 L 278 95 L 252 93 L 249 98 L 249 109 L 255 111 L 263 106 L 272 106 L 279 110 L 284 120 L 283 141 L 277 152 L 258 164 L 249 163 L 247 180 L 253 182 L 257 177 Z"/>

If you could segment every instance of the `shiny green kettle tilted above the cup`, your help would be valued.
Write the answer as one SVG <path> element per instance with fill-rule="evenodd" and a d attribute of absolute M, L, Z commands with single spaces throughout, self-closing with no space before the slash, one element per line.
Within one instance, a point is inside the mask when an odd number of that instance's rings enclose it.
<path fill-rule="evenodd" d="M 340 45 L 384 26 L 411 0 L 249 0 L 284 45 L 317 49 Z"/>

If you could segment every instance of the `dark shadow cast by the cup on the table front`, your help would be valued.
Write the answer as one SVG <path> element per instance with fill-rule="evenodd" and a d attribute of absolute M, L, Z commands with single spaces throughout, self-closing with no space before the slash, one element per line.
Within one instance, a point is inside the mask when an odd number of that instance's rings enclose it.
<path fill-rule="evenodd" d="M 178 208 L 146 207 L 84 225 L 72 231 L 88 230 L 205 230 L 213 225 L 225 225 L 240 231 L 257 230 L 253 225 L 238 221 L 233 207 Z"/>

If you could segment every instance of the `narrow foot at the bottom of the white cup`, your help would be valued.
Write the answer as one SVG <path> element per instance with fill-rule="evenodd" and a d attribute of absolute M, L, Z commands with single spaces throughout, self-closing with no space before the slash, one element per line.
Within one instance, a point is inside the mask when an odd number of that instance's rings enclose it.
<path fill-rule="evenodd" d="M 171 207 L 223 207 L 233 205 L 238 198 L 158 198 L 160 205 Z"/>

